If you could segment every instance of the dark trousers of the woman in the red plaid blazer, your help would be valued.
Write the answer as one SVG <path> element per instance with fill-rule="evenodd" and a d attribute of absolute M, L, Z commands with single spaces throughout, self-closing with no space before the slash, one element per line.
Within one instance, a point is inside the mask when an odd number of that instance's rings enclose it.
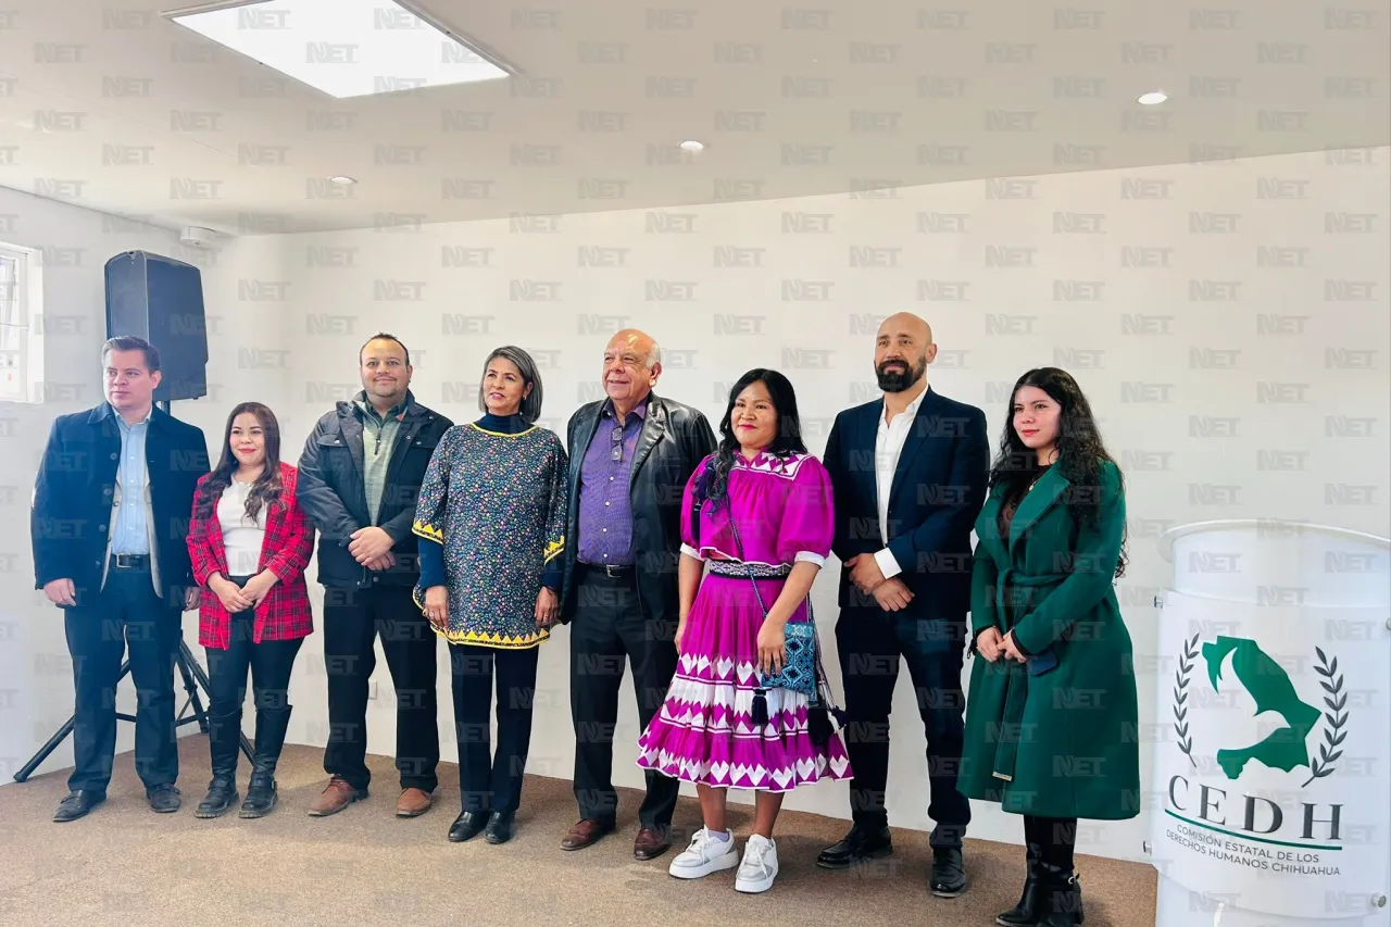
<path fill-rule="evenodd" d="M 245 578 L 232 578 L 238 586 Z M 289 674 L 305 639 L 262 640 L 256 643 L 256 612 L 231 615 L 232 628 L 227 650 L 207 647 L 209 713 L 217 717 L 239 714 L 246 702 L 246 671 L 252 674 L 252 695 L 257 711 L 289 707 Z"/>

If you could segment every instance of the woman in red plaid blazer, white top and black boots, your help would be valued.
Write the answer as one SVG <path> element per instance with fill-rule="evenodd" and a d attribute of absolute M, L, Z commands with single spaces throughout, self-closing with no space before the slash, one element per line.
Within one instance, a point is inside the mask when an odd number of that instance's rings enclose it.
<path fill-rule="evenodd" d="M 198 817 L 218 817 L 239 798 L 246 671 L 256 700 L 256 753 L 241 817 L 275 807 L 275 764 L 289 724 L 289 674 L 314 631 L 305 566 L 314 529 L 295 500 L 299 477 L 280 461 L 280 423 L 260 402 L 227 418 L 223 455 L 198 482 L 188 551 L 202 587 L 198 637 L 207 650 L 213 781 Z"/>

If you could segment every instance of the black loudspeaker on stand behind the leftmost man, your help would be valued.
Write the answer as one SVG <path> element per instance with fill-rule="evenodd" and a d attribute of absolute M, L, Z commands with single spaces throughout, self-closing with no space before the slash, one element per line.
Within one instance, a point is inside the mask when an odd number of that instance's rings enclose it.
<path fill-rule="evenodd" d="M 106 262 L 106 337 L 127 334 L 160 351 L 156 402 L 207 395 L 207 317 L 198 267 L 145 251 Z"/>

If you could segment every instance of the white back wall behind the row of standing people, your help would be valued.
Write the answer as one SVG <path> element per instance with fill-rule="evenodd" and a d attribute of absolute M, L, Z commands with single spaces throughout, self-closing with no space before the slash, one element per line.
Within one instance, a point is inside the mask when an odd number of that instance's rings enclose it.
<path fill-rule="evenodd" d="M 875 394 L 878 320 L 918 312 L 940 345 L 935 388 L 985 408 L 992 430 L 1004 423 L 1010 384 L 1031 366 L 1070 369 L 1091 397 L 1129 479 L 1132 561 L 1120 596 L 1148 721 L 1163 670 L 1150 603 L 1168 578 L 1153 544 L 1164 528 L 1260 516 L 1391 532 L 1388 159 L 1388 149 L 1320 152 L 882 196 L 242 239 L 204 276 L 217 405 L 207 412 L 210 450 L 232 402 L 263 398 L 280 412 L 285 457 L 295 459 L 313 420 L 357 388 L 355 354 L 377 330 L 413 348 L 416 395 L 456 420 L 477 415 L 487 352 L 527 348 L 545 367 L 544 423 L 561 430 L 576 405 L 601 395 L 608 334 L 633 324 L 666 351 L 658 388 L 712 418 L 748 367 L 785 370 L 819 452 L 835 413 Z M 1369 231 L 1334 231 L 1358 227 Z M 100 280 L 92 280 L 99 315 Z M 100 341 L 88 340 L 93 349 Z M 49 416 L 32 418 L 46 427 Z M 29 445 L 7 477 L 14 486 L 32 480 Z M 11 544 L 28 569 L 26 543 Z M 833 646 L 829 576 L 814 596 Z M 562 631 L 541 657 L 529 764 L 540 775 L 572 770 L 568 647 Z M 64 653 L 61 636 L 46 653 Z M 323 665 L 316 635 L 292 683 L 294 740 L 327 740 Z M 442 646 L 440 667 L 442 752 L 452 760 Z M 380 656 L 377 679 L 369 749 L 389 754 L 394 707 Z M 46 702 L 70 703 L 65 676 L 46 686 Z M 894 720 L 892 821 L 928 828 L 907 681 Z M 38 727 L 46 724 L 47 715 Z M 616 738 L 620 785 L 641 781 L 632 764 L 637 735 L 629 689 Z M 787 807 L 847 817 L 846 786 L 797 792 Z M 976 813 L 972 837 L 1020 839 L 1017 818 L 983 805 Z M 1128 859 L 1141 857 L 1143 837 L 1143 818 L 1084 823 L 1079 832 L 1085 852 Z"/>

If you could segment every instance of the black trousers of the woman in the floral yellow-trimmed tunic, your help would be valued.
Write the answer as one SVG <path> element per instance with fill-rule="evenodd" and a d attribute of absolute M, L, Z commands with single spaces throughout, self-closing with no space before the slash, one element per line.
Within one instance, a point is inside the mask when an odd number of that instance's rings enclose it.
<path fill-rule="evenodd" d="M 449 644 L 453 727 L 459 739 L 459 792 L 465 811 L 510 814 L 522 805 L 540 647 L 499 650 Z M 488 708 L 498 682 L 498 747 L 491 749 Z"/>

